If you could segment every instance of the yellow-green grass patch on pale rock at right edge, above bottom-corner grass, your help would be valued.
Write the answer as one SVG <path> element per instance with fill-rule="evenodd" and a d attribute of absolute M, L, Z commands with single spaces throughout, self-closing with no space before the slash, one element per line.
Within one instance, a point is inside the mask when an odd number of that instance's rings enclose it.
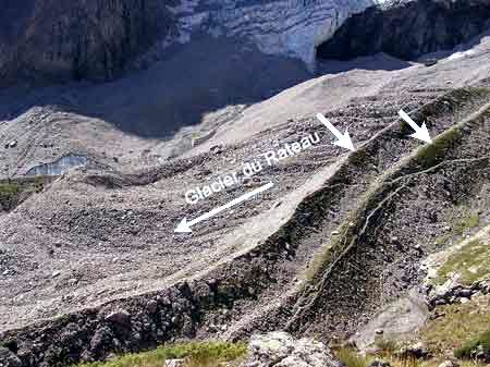
<path fill-rule="evenodd" d="M 458 273 L 461 282 L 470 285 L 479 279 L 490 274 L 490 245 L 474 240 L 451 254 L 439 268 L 434 284 L 443 284 L 451 273 Z"/>

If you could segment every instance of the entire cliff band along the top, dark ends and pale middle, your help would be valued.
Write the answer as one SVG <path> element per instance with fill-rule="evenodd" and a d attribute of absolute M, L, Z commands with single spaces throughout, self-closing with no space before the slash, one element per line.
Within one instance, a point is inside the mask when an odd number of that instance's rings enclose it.
<path fill-rule="evenodd" d="M 252 40 L 310 70 L 317 56 L 413 59 L 476 36 L 489 20 L 490 0 L 7 0 L 0 86 L 113 79 L 203 34 Z"/>

